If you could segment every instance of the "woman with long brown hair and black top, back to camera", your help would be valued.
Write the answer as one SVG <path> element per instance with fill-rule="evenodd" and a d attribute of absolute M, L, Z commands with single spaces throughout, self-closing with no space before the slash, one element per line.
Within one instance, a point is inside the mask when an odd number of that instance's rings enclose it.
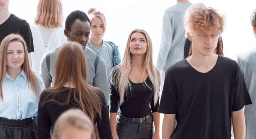
<path fill-rule="evenodd" d="M 69 56 L 67 56 L 67 54 Z M 67 42 L 55 63 L 55 83 L 41 93 L 38 107 L 38 137 L 50 138 L 50 129 L 64 111 L 79 108 L 97 122 L 101 139 L 112 139 L 104 93 L 86 82 L 87 65 L 82 46 Z"/>

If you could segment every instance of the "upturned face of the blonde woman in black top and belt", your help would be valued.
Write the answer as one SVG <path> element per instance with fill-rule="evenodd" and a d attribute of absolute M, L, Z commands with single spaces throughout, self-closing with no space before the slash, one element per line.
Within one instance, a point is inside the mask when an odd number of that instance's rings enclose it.
<path fill-rule="evenodd" d="M 144 34 L 135 32 L 130 39 L 130 52 L 133 55 L 144 55 L 147 51 L 148 43 Z"/>

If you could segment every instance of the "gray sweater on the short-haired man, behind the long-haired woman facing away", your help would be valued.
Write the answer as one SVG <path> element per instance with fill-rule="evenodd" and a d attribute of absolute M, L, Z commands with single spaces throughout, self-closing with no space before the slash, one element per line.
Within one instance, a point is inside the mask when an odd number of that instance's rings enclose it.
<path fill-rule="evenodd" d="M 57 47 L 48 51 L 41 59 L 40 75 L 46 88 L 51 87 L 51 83 L 54 85 L 55 62 L 59 49 L 60 47 Z M 99 87 L 105 93 L 106 100 L 108 101 L 110 87 L 108 87 L 107 67 L 104 59 L 87 47 L 84 49 L 84 54 L 87 62 L 87 83 L 91 86 Z"/>

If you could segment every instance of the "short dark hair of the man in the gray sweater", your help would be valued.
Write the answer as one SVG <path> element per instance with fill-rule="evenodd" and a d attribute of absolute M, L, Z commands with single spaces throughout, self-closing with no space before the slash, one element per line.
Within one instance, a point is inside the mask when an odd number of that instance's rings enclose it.
<path fill-rule="evenodd" d="M 79 10 L 73 11 L 71 12 L 66 19 L 66 23 L 65 23 L 65 29 L 67 29 L 68 31 L 71 30 L 71 26 L 73 25 L 73 23 L 77 20 L 81 20 L 81 21 L 88 21 L 90 23 L 90 19 L 88 18 L 88 16 Z M 91 25 L 91 23 L 90 23 Z"/>

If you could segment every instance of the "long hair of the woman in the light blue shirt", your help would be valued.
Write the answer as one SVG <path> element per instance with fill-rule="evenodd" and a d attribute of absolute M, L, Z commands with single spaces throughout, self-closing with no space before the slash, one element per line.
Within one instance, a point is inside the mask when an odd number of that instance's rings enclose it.
<path fill-rule="evenodd" d="M 25 72 L 27 76 L 26 84 L 30 84 L 30 88 L 35 93 L 35 96 L 38 95 L 38 79 L 35 77 L 34 72 L 31 70 L 29 65 L 29 56 L 28 56 L 28 50 L 26 46 L 26 42 L 20 35 L 16 34 L 10 34 L 6 36 L 0 45 L 0 98 L 3 100 L 3 81 L 6 78 L 6 72 L 7 72 L 7 65 L 6 65 L 6 58 L 7 58 L 7 49 L 11 42 L 20 42 L 23 44 L 24 49 L 24 63 L 22 64 L 21 68 Z"/>

